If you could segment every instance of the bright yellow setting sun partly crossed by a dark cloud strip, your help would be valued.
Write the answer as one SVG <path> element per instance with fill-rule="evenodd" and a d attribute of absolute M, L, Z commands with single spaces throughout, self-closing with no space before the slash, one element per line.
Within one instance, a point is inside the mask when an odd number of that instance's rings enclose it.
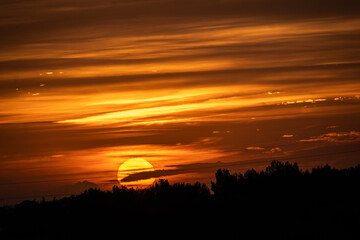
<path fill-rule="evenodd" d="M 149 172 L 149 171 L 154 171 L 154 167 L 153 165 L 151 165 L 151 163 L 149 163 L 143 158 L 131 158 L 120 165 L 117 178 L 121 185 L 128 187 L 142 188 L 151 185 L 154 182 L 155 178 L 149 178 L 149 179 L 132 181 L 132 182 L 123 181 L 123 179 L 129 176 L 130 174 Z"/>

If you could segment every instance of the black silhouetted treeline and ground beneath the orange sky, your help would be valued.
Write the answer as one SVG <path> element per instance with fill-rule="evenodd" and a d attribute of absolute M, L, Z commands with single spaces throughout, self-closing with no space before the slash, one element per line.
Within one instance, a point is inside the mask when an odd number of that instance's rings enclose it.
<path fill-rule="evenodd" d="M 89 189 L 0 208 L 1 239 L 360 239 L 360 165 L 216 172 L 204 184 Z"/>

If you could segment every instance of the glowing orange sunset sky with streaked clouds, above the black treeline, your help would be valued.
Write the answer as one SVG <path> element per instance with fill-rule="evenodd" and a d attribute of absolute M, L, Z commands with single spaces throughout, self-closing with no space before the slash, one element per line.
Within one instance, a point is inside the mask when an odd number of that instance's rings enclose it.
<path fill-rule="evenodd" d="M 360 163 L 357 0 L 3 0 L 0 36 L 0 204 Z"/>

